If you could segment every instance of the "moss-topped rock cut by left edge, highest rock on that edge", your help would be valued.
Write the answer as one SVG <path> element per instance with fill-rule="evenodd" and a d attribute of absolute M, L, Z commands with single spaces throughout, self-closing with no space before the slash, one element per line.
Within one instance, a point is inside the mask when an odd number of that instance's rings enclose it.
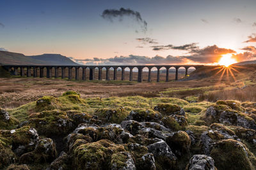
<path fill-rule="evenodd" d="M 14 129 L 19 124 L 19 120 L 10 117 L 8 111 L 0 108 L 0 129 Z"/>

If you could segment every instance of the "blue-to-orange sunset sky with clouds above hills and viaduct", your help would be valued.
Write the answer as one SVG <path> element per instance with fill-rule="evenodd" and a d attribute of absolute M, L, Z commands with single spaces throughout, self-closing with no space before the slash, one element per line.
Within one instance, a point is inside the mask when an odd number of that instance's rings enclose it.
<path fill-rule="evenodd" d="M 82 64 L 256 59 L 255 0 L 0 0 L 0 50 Z"/>

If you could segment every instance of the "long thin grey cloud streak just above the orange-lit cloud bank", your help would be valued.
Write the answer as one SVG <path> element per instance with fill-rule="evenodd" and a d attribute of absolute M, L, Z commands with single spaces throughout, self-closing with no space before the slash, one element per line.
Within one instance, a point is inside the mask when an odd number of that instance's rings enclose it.
<path fill-rule="evenodd" d="M 151 46 L 154 51 L 159 51 L 159 50 L 189 50 L 190 52 L 193 50 L 198 49 L 197 43 L 190 43 L 186 45 L 181 45 L 181 46 L 174 46 L 174 45 L 155 45 Z"/>

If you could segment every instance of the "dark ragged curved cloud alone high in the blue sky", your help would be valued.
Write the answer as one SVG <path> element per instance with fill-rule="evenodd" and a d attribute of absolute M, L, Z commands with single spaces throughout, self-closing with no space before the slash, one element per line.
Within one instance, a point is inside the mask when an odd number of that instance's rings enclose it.
<path fill-rule="evenodd" d="M 124 16 L 135 18 L 138 23 L 142 24 L 143 32 L 147 31 L 148 24 L 141 18 L 138 11 L 130 10 L 129 8 L 120 8 L 120 10 L 104 10 L 101 15 L 102 18 L 108 19 L 111 22 L 113 21 L 113 18 L 119 18 L 119 21 L 122 21 L 122 17 Z"/>

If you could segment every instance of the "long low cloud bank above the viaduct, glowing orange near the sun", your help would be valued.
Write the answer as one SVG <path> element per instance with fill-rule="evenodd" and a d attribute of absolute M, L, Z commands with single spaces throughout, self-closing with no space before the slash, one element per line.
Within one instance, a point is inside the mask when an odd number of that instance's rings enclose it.
<path fill-rule="evenodd" d="M 87 65 L 146 65 L 146 64 L 184 64 L 184 63 L 196 63 L 196 64 L 208 64 L 218 62 L 222 55 L 227 53 L 236 53 L 236 51 L 228 48 L 220 48 L 216 45 L 206 46 L 205 48 L 195 47 L 195 43 L 192 45 L 172 46 L 177 49 L 189 50 L 189 55 L 161 57 L 156 55 L 154 57 L 147 57 L 141 55 L 129 55 L 129 56 L 115 56 L 108 59 L 77 59 L 75 60 L 79 64 Z M 252 52 L 245 52 L 234 54 L 237 61 L 246 59 L 253 59 Z"/>

